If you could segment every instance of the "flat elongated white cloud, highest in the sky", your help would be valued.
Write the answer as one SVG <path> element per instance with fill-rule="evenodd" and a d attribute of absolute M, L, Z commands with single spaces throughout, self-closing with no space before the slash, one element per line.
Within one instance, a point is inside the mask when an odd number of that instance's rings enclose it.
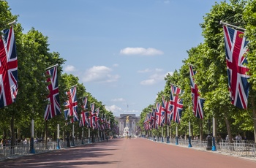
<path fill-rule="evenodd" d="M 155 56 L 162 55 L 163 52 L 161 50 L 157 50 L 155 48 L 143 48 L 143 47 L 126 47 L 121 49 L 120 51 L 123 55 L 142 55 L 142 56 Z"/>

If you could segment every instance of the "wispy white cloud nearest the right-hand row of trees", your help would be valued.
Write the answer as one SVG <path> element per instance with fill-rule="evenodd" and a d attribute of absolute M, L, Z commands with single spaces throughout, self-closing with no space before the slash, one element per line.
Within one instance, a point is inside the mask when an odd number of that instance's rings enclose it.
<path fill-rule="evenodd" d="M 161 81 L 164 81 L 168 73 L 170 75 L 173 75 L 173 72 L 166 72 L 166 73 L 162 73 L 162 72 L 163 72 L 163 69 L 154 69 L 154 73 L 150 75 L 147 80 L 141 81 L 140 85 L 154 85 Z"/>

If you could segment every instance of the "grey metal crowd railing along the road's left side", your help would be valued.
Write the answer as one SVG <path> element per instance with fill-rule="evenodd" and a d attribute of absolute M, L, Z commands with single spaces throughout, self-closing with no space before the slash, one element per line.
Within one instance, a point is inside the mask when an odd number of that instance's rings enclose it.
<path fill-rule="evenodd" d="M 72 140 L 70 140 L 70 147 L 86 145 L 91 142 L 92 140 L 89 142 L 88 139 L 74 140 L 74 143 L 72 144 Z M 94 142 L 100 142 L 100 140 L 96 138 L 94 139 Z M 60 141 L 59 145 L 58 142 L 47 142 L 47 145 L 45 145 L 45 142 L 34 142 L 34 153 L 44 153 L 59 148 L 69 148 L 67 146 L 67 141 Z M 11 148 L 10 145 L 0 146 L 0 160 L 34 154 L 31 153 L 30 150 L 31 148 L 29 143 L 16 143 L 13 148 Z"/>

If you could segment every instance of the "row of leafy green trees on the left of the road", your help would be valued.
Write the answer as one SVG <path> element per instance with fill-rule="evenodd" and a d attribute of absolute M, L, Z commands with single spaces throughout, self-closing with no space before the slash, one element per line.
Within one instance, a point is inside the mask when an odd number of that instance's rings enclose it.
<path fill-rule="evenodd" d="M 7 1 L 0 1 L 0 28 L 10 28 L 8 23 L 18 20 L 18 15 L 12 15 Z M 16 138 L 31 137 L 31 119 L 34 119 L 34 130 L 37 137 L 53 137 L 56 134 L 57 124 L 61 126 L 61 131 L 70 132 L 72 125 L 67 125 L 64 119 L 64 102 L 67 101 L 66 91 L 72 85 L 77 85 L 78 112 L 81 111 L 82 99 L 87 96 L 88 104 L 94 103 L 99 107 L 100 114 L 104 114 L 114 123 L 112 112 L 105 109 L 102 102 L 97 101 L 91 93 L 86 91 L 86 87 L 79 83 L 78 77 L 62 73 L 62 65 L 66 60 L 61 58 L 57 52 L 50 52 L 48 37 L 35 28 L 31 28 L 26 34 L 20 23 L 14 26 L 16 49 L 18 53 L 18 95 L 15 103 L 0 110 L 0 139 L 12 137 L 12 145 Z M 61 115 L 44 120 L 45 107 L 48 104 L 48 90 L 45 77 L 45 69 L 49 66 L 59 64 L 59 97 L 61 105 Z M 90 110 L 90 107 L 88 107 Z M 48 134 L 45 135 L 47 124 Z M 75 124 L 75 132 L 81 132 Z M 16 133 L 16 134 L 15 134 Z"/>

